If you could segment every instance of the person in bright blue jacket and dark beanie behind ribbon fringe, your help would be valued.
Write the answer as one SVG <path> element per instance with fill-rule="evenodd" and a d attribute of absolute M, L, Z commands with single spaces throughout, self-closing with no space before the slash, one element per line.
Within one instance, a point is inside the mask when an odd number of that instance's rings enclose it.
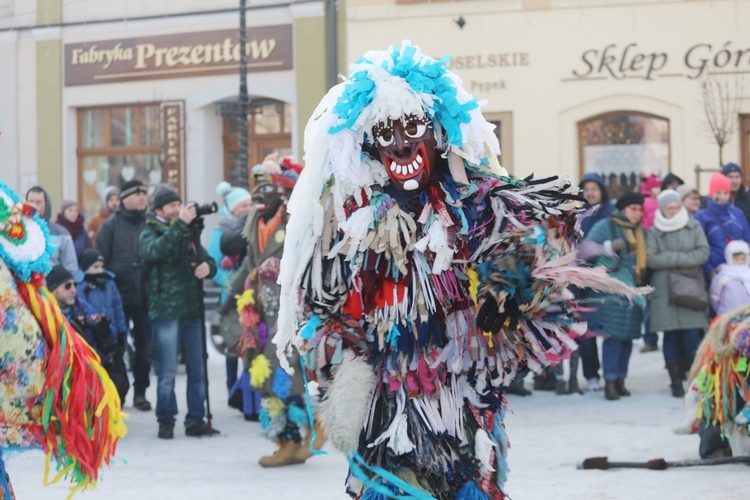
<path fill-rule="evenodd" d="M 112 353 L 112 363 L 121 367 L 123 374 L 125 374 L 125 380 L 120 391 L 120 399 L 124 401 L 130 389 L 123 360 L 125 343 L 128 338 L 128 326 L 125 321 L 122 298 L 115 284 L 115 276 L 104 268 L 104 256 L 96 249 L 84 250 L 78 262 L 81 271 L 76 275 L 76 296 L 90 304 L 96 314 L 107 319 L 110 331 L 117 339 L 117 350 Z"/>

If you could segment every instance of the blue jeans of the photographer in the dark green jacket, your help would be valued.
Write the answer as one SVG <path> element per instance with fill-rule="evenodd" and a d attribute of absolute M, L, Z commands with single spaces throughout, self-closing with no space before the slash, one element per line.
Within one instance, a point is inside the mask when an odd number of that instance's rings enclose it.
<path fill-rule="evenodd" d="M 157 387 L 156 419 L 174 421 L 177 416 L 177 398 L 174 380 L 177 375 L 177 354 L 182 346 L 182 356 L 187 369 L 188 413 L 185 426 L 205 415 L 206 400 L 205 371 L 203 369 L 203 346 L 201 345 L 200 319 L 154 321 L 156 335 Z"/>

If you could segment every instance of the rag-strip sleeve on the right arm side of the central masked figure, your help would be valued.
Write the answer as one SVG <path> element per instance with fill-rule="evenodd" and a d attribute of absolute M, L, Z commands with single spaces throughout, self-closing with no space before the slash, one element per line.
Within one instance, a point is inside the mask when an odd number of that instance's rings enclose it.
<path fill-rule="evenodd" d="M 637 292 L 603 268 L 583 267 L 575 253 L 578 190 L 558 178 L 511 180 L 491 193 L 497 221 L 473 264 L 476 326 L 507 360 L 506 369 L 533 371 L 557 364 L 585 331 L 571 285 L 605 293 Z M 601 222 L 592 229 L 592 239 Z M 471 275 L 470 275 L 471 279 Z"/>

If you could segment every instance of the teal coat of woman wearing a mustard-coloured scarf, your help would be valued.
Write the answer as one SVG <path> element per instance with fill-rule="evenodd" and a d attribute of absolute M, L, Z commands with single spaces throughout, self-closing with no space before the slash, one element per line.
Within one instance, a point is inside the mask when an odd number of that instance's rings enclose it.
<path fill-rule="evenodd" d="M 615 210 L 612 217 L 622 217 Z M 606 241 L 625 239 L 620 226 L 612 222 L 612 217 L 599 221 L 591 228 L 586 239 L 599 245 Z M 627 248 L 617 253 L 616 256 L 602 254 L 596 262 L 596 266 L 607 269 L 610 277 L 618 279 L 626 285 L 635 285 L 635 255 L 631 255 Z M 590 306 L 596 311 L 588 315 L 589 329 L 602 335 L 609 336 L 615 340 L 632 340 L 640 337 L 643 313 L 646 307 L 646 299 L 643 296 L 633 298 L 633 303 L 619 295 L 592 292 L 589 294 Z"/>

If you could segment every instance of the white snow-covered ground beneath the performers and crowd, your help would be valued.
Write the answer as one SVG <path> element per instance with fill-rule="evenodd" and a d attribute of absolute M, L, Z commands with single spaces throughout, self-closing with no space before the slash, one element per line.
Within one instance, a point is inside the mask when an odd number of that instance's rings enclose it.
<path fill-rule="evenodd" d="M 519 499 L 740 499 L 748 498 L 750 468 L 745 465 L 693 467 L 667 471 L 576 470 L 584 458 L 608 456 L 614 461 L 652 458 L 698 458 L 697 436 L 677 436 L 671 425 L 683 417 L 682 401 L 669 395 L 661 353 L 640 354 L 636 343 L 628 387 L 620 401 L 605 401 L 602 392 L 557 396 L 536 392 L 512 397 L 507 418 L 511 439 L 511 473 L 507 484 Z M 306 464 L 263 469 L 258 458 L 273 445 L 226 405 L 223 358 L 209 359 L 214 425 L 220 437 L 190 438 L 181 425 L 173 441 L 156 438 L 153 412 L 130 413 L 128 436 L 120 442 L 122 459 L 105 470 L 99 486 L 77 496 L 86 499 L 239 499 L 345 500 L 346 460 L 329 449 Z M 156 403 L 155 377 L 148 397 Z M 581 377 L 581 384 L 583 379 Z M 530 382 L 526 382 L 527 386 Z M 177 382 L 185 408 L 185 376 Z M 18 500 L 63 499 L 65 485 L 42 486 L 41 452 L 11 457 L 8 470 Z M 744 493 L 743 493 L 744 491 Z"/>

